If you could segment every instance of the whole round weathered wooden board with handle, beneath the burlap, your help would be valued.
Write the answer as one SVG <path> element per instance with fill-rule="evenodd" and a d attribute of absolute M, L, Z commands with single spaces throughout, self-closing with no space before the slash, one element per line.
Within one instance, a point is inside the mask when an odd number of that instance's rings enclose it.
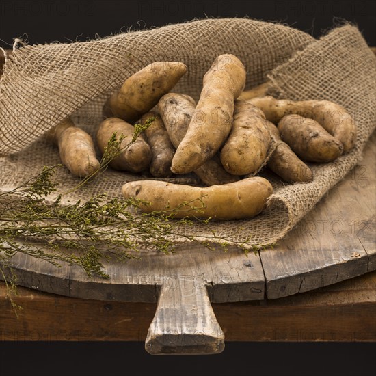
<path fill-rule="evenodd" d="M 219 353 L 224 333 L 211 303 L 286 297 L 376 269 L 375 141 L 373 133 L 364 159 L 273 249 L 245 255 L 237 247 L 179 245 L 172 255 L 109 263 L 109 280 L 18 254 L 18 284 L 84 299 L 158 302 L 149 353 Z"/>

